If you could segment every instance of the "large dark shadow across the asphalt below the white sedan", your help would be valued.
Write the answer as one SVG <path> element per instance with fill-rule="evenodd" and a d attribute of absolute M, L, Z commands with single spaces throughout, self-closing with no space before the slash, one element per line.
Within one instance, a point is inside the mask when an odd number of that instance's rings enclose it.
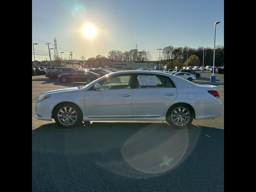
<path fill-rule="evenodd" d="M 32 191 L 223 191 L 224 130 L 103 123 L 32 131 Z"/>

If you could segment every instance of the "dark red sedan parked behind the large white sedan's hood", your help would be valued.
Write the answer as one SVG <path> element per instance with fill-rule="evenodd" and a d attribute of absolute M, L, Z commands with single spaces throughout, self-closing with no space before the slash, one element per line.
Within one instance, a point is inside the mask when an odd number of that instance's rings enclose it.
<path fill-rule="evenodd" d="M 99 74 L 96 74 L 90 71 L 80 70 L 70 74 L 59 75 L 58 81 L 62 81 L 62 82 L 82 81 L 82 82 L 90 83 L 93 80 L 96 80 L 98 78 L 100 78 Z"/>

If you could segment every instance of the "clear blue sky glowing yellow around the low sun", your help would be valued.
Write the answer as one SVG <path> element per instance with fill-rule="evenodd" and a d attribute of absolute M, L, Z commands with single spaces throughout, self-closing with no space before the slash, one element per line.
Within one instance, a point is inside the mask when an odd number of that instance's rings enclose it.
<path fill-rule="evenodd" d="M 149 51 L 158 60 L 160 48 L 224 46 L 224 0 L 32 0 L 33 43 L 36 60 L 50 60 L 47 42 L 54 38 L 62 58 L 80 59 L 112 50 Z M 98 30 L 94 38 L 82 32 L 86 23 Z M 53 56 L 54 50 L 51 50 Z"/>

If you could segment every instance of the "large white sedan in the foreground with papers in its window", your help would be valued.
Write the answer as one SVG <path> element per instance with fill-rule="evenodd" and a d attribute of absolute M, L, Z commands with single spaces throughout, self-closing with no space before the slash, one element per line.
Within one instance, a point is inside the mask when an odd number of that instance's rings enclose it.
<path fill-rule="evenodd" d="M 220 116 L 216 86 L 197 85 L 155 71 L 108 74 L 85 86 L 44 92 L 35 106 L 38 120 L 72 127 L 84 121 L 143 120 L 188 127 L 193 119 Z"/>

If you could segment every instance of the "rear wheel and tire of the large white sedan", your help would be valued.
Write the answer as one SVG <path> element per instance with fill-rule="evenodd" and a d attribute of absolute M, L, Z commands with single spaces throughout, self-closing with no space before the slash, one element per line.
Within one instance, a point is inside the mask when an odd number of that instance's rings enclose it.
<path fill-rule="evenodd" d="M 189 127 L 193 118 L 194 110 L 187 104 L 176 104 L 166 114 L 166 122 L 174 128 Z"/>

